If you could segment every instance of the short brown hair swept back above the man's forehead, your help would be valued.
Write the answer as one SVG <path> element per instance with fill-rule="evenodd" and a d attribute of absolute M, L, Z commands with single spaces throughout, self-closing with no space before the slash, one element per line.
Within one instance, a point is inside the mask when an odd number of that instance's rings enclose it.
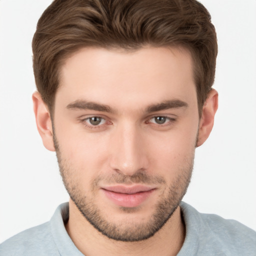
<path fill-rule="evenodd" d="M 196 0 L 54 0 L 33 36 L 35 83 L 51 110 L 62 61 L 81 47 L 182 46 L 192 54 L 199 114 L 214 81 L 217 40 Z"/>

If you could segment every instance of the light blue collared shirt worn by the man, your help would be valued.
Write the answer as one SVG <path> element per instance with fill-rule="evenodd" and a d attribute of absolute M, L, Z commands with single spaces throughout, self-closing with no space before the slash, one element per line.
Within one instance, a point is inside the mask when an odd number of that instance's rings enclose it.
<path fill-rule="evenodd" d="M 180 203 L 186 235 L 178 256 L 255 256 L 256 232 L 214 214 L 199 213 Z M 68 236 L 64 223 L 68 203 L 60 204 L 50 221 L 24 230 L 0 244 L 1 256 L 82 256 Z M 104 251 L 102 251 L 104 255 Z"/>

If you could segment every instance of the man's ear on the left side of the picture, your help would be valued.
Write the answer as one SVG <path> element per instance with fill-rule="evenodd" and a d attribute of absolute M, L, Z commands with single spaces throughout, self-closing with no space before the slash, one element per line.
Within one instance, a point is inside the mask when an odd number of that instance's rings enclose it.
<path fill-rule="evenodd" d="M 47 106 L 39 92 L 32 94 L 36 126 L 42 138 L 43 145 L 50 151 L 55 151 L 53 143 L 52 123 Z"/>

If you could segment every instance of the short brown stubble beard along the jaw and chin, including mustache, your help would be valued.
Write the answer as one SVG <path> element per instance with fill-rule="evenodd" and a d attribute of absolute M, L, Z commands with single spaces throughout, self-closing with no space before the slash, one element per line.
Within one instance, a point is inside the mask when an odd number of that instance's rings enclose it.
<path fill-rule="evenodd" d="M 180 174 L 175 178 L 171 186 L 166 188 L 167 192 L 165 191 L 165 194 L 163 193 L 163 196 L 160 197 L 161 199 L 156 204 L 155 210 L 147 222 L 134 224 L 134 222 L 131 221 L 130 223 L 125 223 L 124 219 L 121 223 L 117 224 L 106 219 L 104 214 L 102 214 L 104 209 L 100 209 L 93 203 L 93 199 L 85 196 L 82 189 L 79 189 L 79 177 L 75 176 L 76 172 L 72 169 L 67 160 L 62 159 L 55 136 L 54 145 L 60 174 L 71 200 L 94 228 L 108 238 L 118 241 L 141 241 L 153 236 L 167 222 L 167 220 L 169 220 L 175 209 L 178 207 L 187 190 L 192 174 L 194 154 L 189 157 L 189 159 L 186 159 L 182 169 L 177 171 L 177 173 Z M 166 184 L 161 176 L 149 176 L 142 171 L 136 172 L 132 176 L 116 173 L 108 177 L 98 176 L 95 178 L 91 183 L 91 194 L 98 188 L 98 182 L 100 180 L 106 181 L 106 179 L 108 182 L 122 184 Z M 138 208 L 120 207 L 120 209 L 126 214 L 131 214 Z"/>

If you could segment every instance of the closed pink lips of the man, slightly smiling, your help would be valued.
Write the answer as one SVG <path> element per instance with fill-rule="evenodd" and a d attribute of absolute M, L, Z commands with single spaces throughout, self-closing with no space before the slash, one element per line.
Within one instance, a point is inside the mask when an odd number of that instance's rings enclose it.
<path fill-rule="evenodd" d="M 101 190 L 108 199 L 122 207 L 136 207 L 140 205 L 155 189 L 155 187 L 146 185 L 114 185 L 101 187 Z"/>

